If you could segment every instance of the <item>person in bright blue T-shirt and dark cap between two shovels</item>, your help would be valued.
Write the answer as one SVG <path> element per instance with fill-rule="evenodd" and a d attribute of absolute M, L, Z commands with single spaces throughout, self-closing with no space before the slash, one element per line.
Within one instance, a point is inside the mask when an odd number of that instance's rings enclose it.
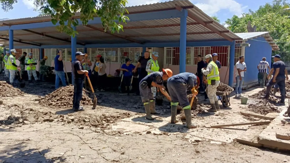
<path fill-rule="evenodd" d="M 129 95 L 129 86 L 131 84 L 131 78 L 133 77 L 132 70 L 134 70 L 135 66 L 131 64 L 131 60 L 129 58 L 125 59 L 126 64 L 123 64 L 120 70 L 123 71 L 123 79 L 125 83 L 126 92 Z"/>

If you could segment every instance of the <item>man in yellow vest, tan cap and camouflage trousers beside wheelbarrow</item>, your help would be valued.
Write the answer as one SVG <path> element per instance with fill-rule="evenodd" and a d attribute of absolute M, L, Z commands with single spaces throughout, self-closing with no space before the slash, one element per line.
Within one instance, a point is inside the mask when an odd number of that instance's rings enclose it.
<path fill-rule="evenodd" d="M 209 97 L 209 101 L 211 103 L 211 108 L 208 111 L 216 112 L 217 110 L 220 110 L 218 98 L 215 95 L 217 87 L 220 84 L 220 73 L 218 66 L 215 64 L 210 54 L 206 55 L 205 59 L 207 67 L 202 69 L 202 73 L 206 75 L 206 82 L 208 84 L 207 96 Z"/>

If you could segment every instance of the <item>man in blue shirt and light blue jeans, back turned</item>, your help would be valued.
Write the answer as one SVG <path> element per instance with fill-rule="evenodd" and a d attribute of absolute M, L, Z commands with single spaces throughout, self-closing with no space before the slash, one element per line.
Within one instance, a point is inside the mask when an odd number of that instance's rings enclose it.
<path fill-rule="evenodd" d="M 66 79 L 64 77 L 64 63 L 62 62 L 62 51 L 57 51 L 55 56 L 55 89 L 59 88 L 59 78 L 63 86 L 66 86 Z"/>

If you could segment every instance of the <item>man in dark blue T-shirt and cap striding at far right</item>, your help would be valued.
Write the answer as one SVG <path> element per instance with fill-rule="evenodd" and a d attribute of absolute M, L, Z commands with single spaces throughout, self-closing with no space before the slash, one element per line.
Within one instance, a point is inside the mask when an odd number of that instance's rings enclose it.
<path fill-rule="evenodd" d="M 284 62 L 280 61 L 281 56 L 275 55 L 273 56 L 274 63 L 272 65 L 272 69 L 268 75 L 268 78 L 271 78 L 271 74 L 273 73 L 273 77 L 267 83 L 266 88 L 266 96 L 263 98 L 269 99 L 271 87 L 275 84 L 278 84 L 281 94 L 280 104 L 285 104 L 285 79 L 288 80 L 288 76 L 285 77 L 285 64 Z"/>

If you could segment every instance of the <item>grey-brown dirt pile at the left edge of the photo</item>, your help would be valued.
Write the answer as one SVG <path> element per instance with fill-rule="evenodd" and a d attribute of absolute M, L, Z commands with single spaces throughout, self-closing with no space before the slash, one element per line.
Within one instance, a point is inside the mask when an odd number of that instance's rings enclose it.
<path fill-rule="evenodd" d="M 14 88 L 5 81 L 0 81 L 0 90 L 0 97 L 14 97 L 24 94 L 20 89 Z"/>

